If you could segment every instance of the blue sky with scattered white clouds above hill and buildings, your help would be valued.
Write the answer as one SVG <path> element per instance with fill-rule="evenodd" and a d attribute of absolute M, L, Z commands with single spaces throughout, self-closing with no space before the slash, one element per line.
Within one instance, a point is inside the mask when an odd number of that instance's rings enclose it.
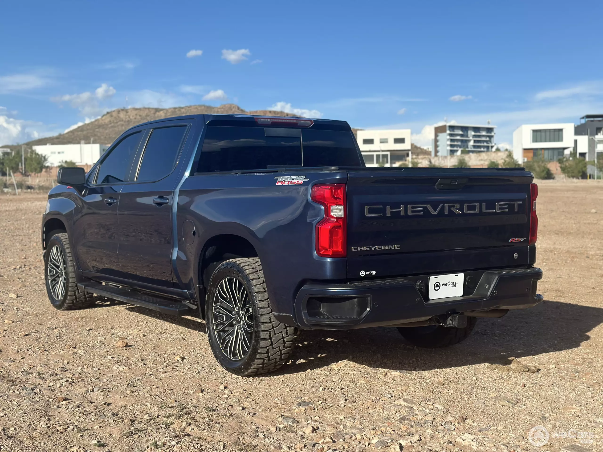
<path fill-rule="evenodd" d="M 603 2 L 4 2 L 0 145 L 119 107 L 233 102 L 359 128 L 603 113 Z M 191 52 L 192 51 L 192 52 Z"/>

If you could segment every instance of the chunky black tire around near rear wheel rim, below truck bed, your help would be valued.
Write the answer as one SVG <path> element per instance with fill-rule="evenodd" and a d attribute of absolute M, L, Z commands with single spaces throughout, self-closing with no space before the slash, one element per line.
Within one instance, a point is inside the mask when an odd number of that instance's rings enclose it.
<path fill-rule="evenodd" d="M 253 337 L 250 348 L 247 354 L 238 360 L 230 359 L 222 350 L 213 325 L 212 309 L 216 292 L 218 285 L 226 278 L 236 278 L 244 285 L 253 309 Z M 293 351 L 296 328 L 274 318 L 268 300 L 262 264 L 257 257 L 230 259 L 216 267 L 207 290 L 205 321 L 213 356 L 232 374 L 249 377 L 274 371 L 289 359 Z"/>

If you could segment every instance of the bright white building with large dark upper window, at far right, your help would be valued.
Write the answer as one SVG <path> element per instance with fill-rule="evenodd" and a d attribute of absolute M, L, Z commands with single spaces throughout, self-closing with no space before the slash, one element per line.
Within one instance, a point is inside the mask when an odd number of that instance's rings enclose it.
<path fill-rule="evenodd" d="M 588 136 L 574 134 L 573 122 L 557 124 L 524 124 L 513 132 L 513 157 L 519 163 L 544 159 L 556 162 L 574 149 L 578 157 L 587 156 Z"/>

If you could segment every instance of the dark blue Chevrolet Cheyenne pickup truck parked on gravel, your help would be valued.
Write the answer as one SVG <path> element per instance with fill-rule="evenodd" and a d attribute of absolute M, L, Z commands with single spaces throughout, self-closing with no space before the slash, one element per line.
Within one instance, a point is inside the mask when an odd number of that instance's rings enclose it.
<path fill-rule="evenodd" d="M 539 303 L 523 168 L 367 168 L 347 122 L 193 115 L 133 127 L 42 222 L 48 297 L 199 313 L 233 374 L 307 329 L 397 327 L 419 347 Z"/>

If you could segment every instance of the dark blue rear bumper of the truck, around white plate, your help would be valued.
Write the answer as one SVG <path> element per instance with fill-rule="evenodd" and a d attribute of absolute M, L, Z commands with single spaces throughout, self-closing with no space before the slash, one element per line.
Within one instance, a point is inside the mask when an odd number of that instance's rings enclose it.
<path fill-rule="evenodd" d="M 428 276 L 419 278 L 425 281 Z M 444 315 L 525 309 L 543 300 L 536 293 L 542 278 L 539 268 L 485 271 L 473 293 L 431 301 L 417 288 L 419 278 L 306 284 L 295 298 L 295 324 L 336 330 L 402 326 Z"/>

